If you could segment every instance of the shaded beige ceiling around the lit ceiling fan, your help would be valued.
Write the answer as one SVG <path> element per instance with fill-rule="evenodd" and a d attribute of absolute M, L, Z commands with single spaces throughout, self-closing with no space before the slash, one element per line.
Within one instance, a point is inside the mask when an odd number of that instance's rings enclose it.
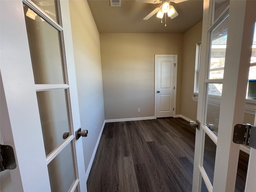
<path fill-rule="evenodd" d="M 178 12 L 174 19 L 166 17 L 167 26 L 156 15 L 143 20 L 160 4 L 121 0 L 120 7 L 111 7 L 109 0 L 88 0 L 99 33 L 184 33 L 203 17 L 203 0 L 170 4 Z"/>

